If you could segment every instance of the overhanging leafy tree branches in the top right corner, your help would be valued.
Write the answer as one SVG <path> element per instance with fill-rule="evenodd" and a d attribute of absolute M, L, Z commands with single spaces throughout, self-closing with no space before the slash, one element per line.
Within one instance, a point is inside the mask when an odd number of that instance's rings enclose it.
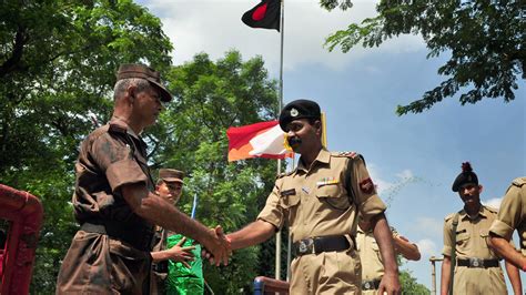
<path fill-rule="evenodd" d="M 332 10 L 347 9 L 351 0 L 321 0 Z M 429 50 L 427 58 L 451 53 L 438 69 L 446 80 L 408 105 L 398 115 L 419 113 L 458 91 L 462 105 L 484 98 L 515 99 L 517 79 L 526 78 L 526 7 L 522 0 L 429 1 L 381 0 L 378 14 L 351 23 L 326 39 L 328 50 L 340 45 L 347 52 L 356 44 L 378 47 L 399 34 L 421 34 Z"/>

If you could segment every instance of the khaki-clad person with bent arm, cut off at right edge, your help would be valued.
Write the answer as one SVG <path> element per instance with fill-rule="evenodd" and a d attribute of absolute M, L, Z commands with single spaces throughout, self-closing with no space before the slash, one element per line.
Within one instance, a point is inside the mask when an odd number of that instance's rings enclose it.
<path fill-rule="evenodd" d="M 522 253 L 508 242 L 515 230 L 518 232 Z M 489 235 L 495 252 L 526 272 L 526 177 L 514 180 L 506 191 L 497 218 L 489 228 Z"/>

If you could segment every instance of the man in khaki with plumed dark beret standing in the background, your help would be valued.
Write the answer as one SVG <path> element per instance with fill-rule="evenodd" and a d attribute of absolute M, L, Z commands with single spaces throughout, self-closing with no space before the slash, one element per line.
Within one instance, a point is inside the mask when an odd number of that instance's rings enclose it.
<path fill-rule="evenodd" d="M 442 295 L 507 294 L 500 257 L 487 244 L 489 226 L 497 217 L 497 211 L 481 203 L 483 186 L 469 162 L 462 164 L 452 190 L 461 196 L 464 208 L 445 217 Z M 506 262 L 506 271 L 514 293 L 522 294 L 517 267 Z"/>

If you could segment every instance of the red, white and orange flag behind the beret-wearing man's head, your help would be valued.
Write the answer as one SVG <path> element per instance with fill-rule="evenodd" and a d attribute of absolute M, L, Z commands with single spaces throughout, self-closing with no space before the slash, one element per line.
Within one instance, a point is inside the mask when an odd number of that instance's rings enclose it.
<path fill-rule="evenodd" d="M 229 162 L 251 157 L 293 156 L 292 150 L 285 146 L 285 132 L 277 120 L 229 128 L 226 136 L 229 136 Z"/>

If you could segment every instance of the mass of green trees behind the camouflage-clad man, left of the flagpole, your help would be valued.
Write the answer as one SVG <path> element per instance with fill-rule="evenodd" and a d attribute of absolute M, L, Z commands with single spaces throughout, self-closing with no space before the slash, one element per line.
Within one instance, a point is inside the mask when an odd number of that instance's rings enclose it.
<path fill-rule="evenodd" d="M 212 61 L 200 53 L 172 67 L 173 47 L 160 20 L 130 0 L 22 2 L 0 2 L 0 183 L 29 191 L 44 206 L 33 292 L 54 292 L 78 230 L 69 203 L 77 149 L 109 120 L 121 63 L 152 65 L 174 93 L 160 122 L 142 135 L 154 172 L 186 173 L 181 210 L 190 213 L 199 196 L 196 218 L 225 232 L 255 218 L 276 163 L 229 163 L 225 131 L 276 116 L 276 83 L 260 57 L 244 61 L 234 50 Z M 273 276 L 273 244 L 236 251 L 229 266 L 205 265 L 206 281 L 218 294 L 249 292 L 256 275 Z"/>

